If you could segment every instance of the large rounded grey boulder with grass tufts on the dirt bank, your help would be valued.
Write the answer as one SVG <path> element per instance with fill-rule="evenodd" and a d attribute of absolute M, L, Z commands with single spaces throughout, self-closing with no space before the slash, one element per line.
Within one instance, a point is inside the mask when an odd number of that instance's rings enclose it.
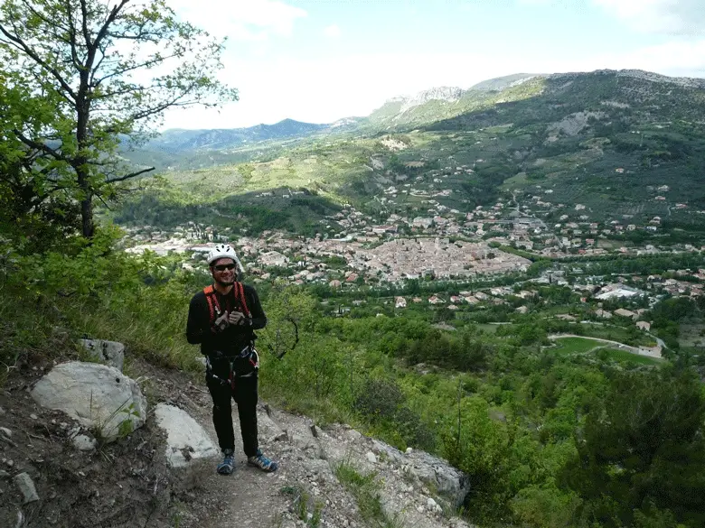
<path fill-rule="evenodd" d="M 147 402 L 139 385 L 113 366 L 61 363 L 34 385 L 32 397 L 42 407 L 65 412 L 106 441 L 117 440 L 146 421 Z"/>

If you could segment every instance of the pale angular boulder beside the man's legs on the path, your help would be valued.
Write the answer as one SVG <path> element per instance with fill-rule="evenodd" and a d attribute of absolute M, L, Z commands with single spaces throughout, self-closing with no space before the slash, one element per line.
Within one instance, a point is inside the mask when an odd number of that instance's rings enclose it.
<path fill-rule="evenodd" d="M 166 461 L 172 468 L 184 468 L 196 459 L 218 457 L 220 450 L 192 416 L 165 403 L 155 407 L 156 423 L 166 431 Z"/>

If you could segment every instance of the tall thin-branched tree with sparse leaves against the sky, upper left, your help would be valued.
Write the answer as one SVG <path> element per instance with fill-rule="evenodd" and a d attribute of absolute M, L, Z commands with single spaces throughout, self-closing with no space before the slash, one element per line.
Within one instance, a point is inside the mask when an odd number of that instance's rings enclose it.
<path fill-rule="evenodd" d="M 10 121 L 14 140 L 32 153 L 22 170 L 43 179 L 37 187 L 69 190 L 83 235 L 93 236 L 93 199 L 114 198 L 115 183 L 153 170 L 127 166 L 121 138 L 145 140 L 167 108 L 237 98 L 214 79 L 222 49 L 178 21 L 165 0 L 6 0 L 3 84 L 46 101 L 42 126 Z M 12 120 L 23 107 L 9 103 Z"/>

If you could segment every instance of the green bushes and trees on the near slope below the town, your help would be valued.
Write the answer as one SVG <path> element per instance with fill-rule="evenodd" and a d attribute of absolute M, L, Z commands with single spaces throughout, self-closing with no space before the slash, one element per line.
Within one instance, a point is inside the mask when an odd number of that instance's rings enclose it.
<path fill-rule="evenodd" d="M 183 327 L 207 275 L 184 273 L 174 257 L 128 256 L 111 239 L 76 238 L 42 254 L 4 243 L 5 380 L 84 334 L 119 339 L 160 366 L 200 370 Z M 491 331 L 477 322 L 484 310 L 465 320 L 444 310 L 378 316 L 389 309 L 368 296 L 369 308 L 340 318 L 314 290 L 258 290 L 269 318 L 258 338 L 263 397 L 319 424 L 352 423 L 447 458 L 470 478 L 465 514 L 475 523 L 703 522 L 705 394 L 691 360 L 644 362 L 576 340 L 550 347 L 550 333 L 605 331 L 544 317 L 575 306 L 568 289 L 541 289 L 531 316 Z M 653 317 L 677 324 L 702 310 L 666 303 Z"/>

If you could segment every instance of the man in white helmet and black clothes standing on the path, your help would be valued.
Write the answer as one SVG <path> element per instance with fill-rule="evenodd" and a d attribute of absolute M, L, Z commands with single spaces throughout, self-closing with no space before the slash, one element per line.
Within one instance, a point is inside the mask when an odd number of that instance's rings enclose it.
<path fill-rule="evenodd" d="M 201 344 L 206 357 L 206 384 L 213 400 L 213 425 L 223 453 L 218 473 L 230 475 L 235 468 L 235 434 L 230 398 L 238 403 L 240 433 L 249 466 L 276 471 L 277 462 L 258 448 L 257 383 L 259 361 L 253 330 L 262 329 L 267 317 L 251 286 L 237 282 L 240 259 L 227 244 L 208 254 L 213 284 L 193 296 L 189 305 L 186 338 Z"/>

